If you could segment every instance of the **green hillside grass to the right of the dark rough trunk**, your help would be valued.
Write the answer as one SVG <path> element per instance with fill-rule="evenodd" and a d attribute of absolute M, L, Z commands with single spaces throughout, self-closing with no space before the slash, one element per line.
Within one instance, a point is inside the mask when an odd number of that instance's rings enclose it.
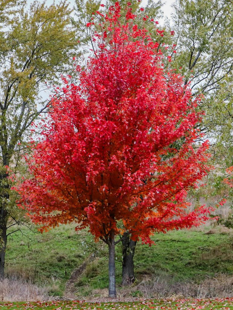
<path fill-rule="evenodd" d="M 153 241 L 154 246 L 136 250 L 138 275 L 163 271 L 179 280 L 197 281 L 218 272 L 233 273 L 232 236 L 180 230 L 157 234 Z"/>

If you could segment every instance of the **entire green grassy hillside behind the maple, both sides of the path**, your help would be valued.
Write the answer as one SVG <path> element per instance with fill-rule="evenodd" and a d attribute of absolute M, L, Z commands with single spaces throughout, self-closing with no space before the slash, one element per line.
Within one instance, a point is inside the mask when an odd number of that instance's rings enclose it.
<path fill-rule="evenodd" d="M 22 228 L 22 232 L 23 235 L 18 233 L 8 240 L 6 274 L 31 279 L 40 286 L 50 287 L 50 294 L 62 296 L 71 272 L 86 262 L 83 272 L 75 279 L 76 294 L 100 296 L 108 287 L 107 246 L 103 242 L 95 243 L 87 231 L 77 233 L 74 225 L 61 225 L 43 234 L 28 228 Z M 131 296 L 150 297 L 153 292 L 149 285 L 155 280 L 160 285 L 164 283 L 167 290 L 175 283 L 186 283 L 187 287 L 188 283 L 198 286 L 206 279 L 223 275 L 232 279 L 233 236 L 226 229 L 172 231 L 156 234 L 153 241 L 155 245 L 151 247 L 140 242 L 136 246 L 136 283 L 127 292 Z M 116 258 L 120 287 L 120 244 Z M 120 290 L 122 294 L 126 291 Z"/>

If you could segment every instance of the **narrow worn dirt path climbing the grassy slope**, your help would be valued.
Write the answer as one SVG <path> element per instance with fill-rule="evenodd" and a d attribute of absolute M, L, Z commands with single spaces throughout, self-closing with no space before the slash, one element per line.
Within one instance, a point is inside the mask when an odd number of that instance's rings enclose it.
<path fill-rule="evenodd" d="M 77 291 L 75 287 L 75 283 L 77 282 L 78 278 L 82 276 L 87 265 L 91 263 L 94 259 L 95 259 L 95 256 L 93 255 L 89 256 L 88 259 L 85 260 L 81 266 L 73 270 L 69 280 L 66 282 L 63 299 L 71 299 L 71 300 L 77 299 L 77 296 L 75 294 Z"/>

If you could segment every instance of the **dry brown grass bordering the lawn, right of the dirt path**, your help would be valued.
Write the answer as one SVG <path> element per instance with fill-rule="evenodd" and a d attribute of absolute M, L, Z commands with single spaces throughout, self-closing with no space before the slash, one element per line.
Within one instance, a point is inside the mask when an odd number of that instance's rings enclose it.
<path fill-rule="evenodd" d="M 90 290 L 88 297 L 107 298 L 107 289 Z M 214 278 L 206 278 L 201 284 L 178 282 L 166 274 L 145 275 L 138 285 L 123 287 L 117 291 L 119 300 L 130 298 L 166 299 L 166 298 L 227 298 L 233 297 L 233 276 L 219 274 Z"/>

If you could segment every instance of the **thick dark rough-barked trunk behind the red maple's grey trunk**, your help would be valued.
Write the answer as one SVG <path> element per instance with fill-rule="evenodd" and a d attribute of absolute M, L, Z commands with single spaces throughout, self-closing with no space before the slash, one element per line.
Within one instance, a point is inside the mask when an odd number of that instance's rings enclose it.
<path fill-rule="evenodd" d="M 122 286 L 130 285 L 134 282 L 133 256 L 137 241 L 130 239 L 129 235 L 122 239 Z"/>

